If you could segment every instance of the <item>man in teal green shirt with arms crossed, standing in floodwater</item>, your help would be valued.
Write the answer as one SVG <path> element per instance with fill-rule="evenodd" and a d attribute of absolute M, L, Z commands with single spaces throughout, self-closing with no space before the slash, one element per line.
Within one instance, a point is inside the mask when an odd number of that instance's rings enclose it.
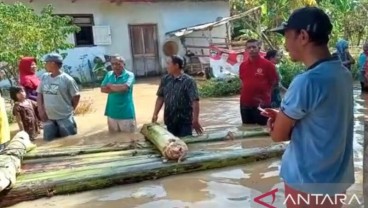
<path fill-rule="evenodd" d="M 133 101 L 134 74 L 125 69 L 125 61 L 116 55 L 111 58 L 112 71 L 102 81 L 101 92 L 107 93 L 105 116 L 110 132 L 133 133 L 136 130 Z"/>

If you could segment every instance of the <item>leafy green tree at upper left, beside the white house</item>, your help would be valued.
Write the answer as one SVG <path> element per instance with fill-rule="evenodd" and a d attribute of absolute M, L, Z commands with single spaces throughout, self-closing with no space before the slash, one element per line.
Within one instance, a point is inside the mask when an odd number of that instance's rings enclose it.
<path fill-rule="evenodd" d="M 70 17 L 53 14 L 46 6 L 40 13 L 22 3 L 0 3 L 0 62 L 8 79 L 17 77 L 22 56 L 38 59 L 52 51 L 71 48 L 67 36 L 79 30 Z"/>

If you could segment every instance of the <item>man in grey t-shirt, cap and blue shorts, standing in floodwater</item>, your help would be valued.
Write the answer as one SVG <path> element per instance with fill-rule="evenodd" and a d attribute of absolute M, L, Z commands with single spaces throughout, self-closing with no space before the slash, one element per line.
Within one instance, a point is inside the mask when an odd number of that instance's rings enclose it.
<path fill-rule="evenodd" d="M 46 55 L 45 62 L 47 72 L 37 89 L 44 140 L 77 134 L 74 110 L 80 98 L 78 85 L 70 75 L 60 70 L 63 65 L 60 54 Z"/>

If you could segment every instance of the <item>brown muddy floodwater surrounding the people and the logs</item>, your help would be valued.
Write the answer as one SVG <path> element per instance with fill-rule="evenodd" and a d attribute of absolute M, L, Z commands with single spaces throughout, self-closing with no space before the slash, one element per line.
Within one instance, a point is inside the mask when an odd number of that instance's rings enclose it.
<path fill-rule="evenodd" d="M 141 85 L 141 86 L 140 86 Z M 145 89 L 145 90 L 143 90 Z M 138 123 L 150 119 L 153 111 L 157 83 L 137 84 L 135 100 Z M 140 91 L 141 90 L 141 91 Z M 96 91 L 97 92 L 97 91 Z M 94 92 L 88 92 L 90 94 Z M 88 94 L 87 93 L 87 94 Z M 147 98 L 149 96 L 149 98 Z M 143 101 L 141 100 L 144 99 Z M 105 98 L 101 98 L 105 99 Z M 105 101 L 98 100 L 97 103 Z M 355 90 L 355 134 L 354 157 L 356 185 L 349 193 L 362 195 L 364 99 L 360 90 Z M 141 109 L 147 109 L 142 112 Z M 97 109 L 102 113 L 103 110 Z M 102 114 L 103 115 L 103 114 Z M 103 118 L 100 115 L 99 120 Z M 90 119 L 89 127 L 83 128 L 84 139 L 72 138 L 58 141 L 50 146 L 77 145 L 111 140 L 105 133 L 104 124 L 91 120 L 91 115 L 77 118 L 81 125 Z M 237 130 L 254 128 L 242 127 L 239 113 L 239 98 L 216 98 L 201 101 L 201 121 L 206 132 L 218 130 Z M 95 123 L 93 123 L 95 122 Z M 89 129 L 89 130 L 88 130 Z M 93 130 L 91 130 L 93 129 Z M 132 136 L 132 135 L 130 135 Z M 136 139 L 142 139 L 139 135 Z M 270 145 L 270 138 L 247 139 L 246 141 L 227 141 L 211 144 L 196 144 L 190 149 L 241 149 Z M 170 176 L 154 181 L 123 185 L 103 190 L 88 191 L 79 194 L 55 196 L 32 202 L 23 202 L 14 208 L 226 208 L 226 207 L 262 207 L 253 204 L 253 198 L 274 187 L 279 188 L 278 196 L 283 195 L 283 184 L 279 179 L 280 160 L 278 158 L 224 169 Z M 276 200 L 277 201 L 277 200 Z M 277 207 L 283 207 L 277 201 Z M 276 203 L 274 204 L 276 205 Z M 358 206 L 349 206 L 358 207 Z"/>

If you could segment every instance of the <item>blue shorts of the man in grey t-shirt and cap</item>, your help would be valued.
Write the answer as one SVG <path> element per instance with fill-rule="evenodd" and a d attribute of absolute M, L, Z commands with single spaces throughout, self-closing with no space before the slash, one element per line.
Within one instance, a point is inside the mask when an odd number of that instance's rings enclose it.
<path fill-rule="evenodd" d="M 75 134 L 77 134 L 77 123 L 74 116 L 59 120 L 48 120 L 43 123 L 43 139 L 46 141 Z"/>

